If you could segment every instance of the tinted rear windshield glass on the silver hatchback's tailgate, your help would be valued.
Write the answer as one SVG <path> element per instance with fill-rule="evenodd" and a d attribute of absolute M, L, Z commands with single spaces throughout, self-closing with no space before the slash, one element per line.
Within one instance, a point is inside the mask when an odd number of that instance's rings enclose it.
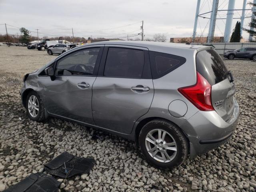
<path fill-rule="evenodd" d="M 214 49 L 202 50 L 196 54 L 196 70 L 211 84 L 227 78 L 228 70 Z"/>

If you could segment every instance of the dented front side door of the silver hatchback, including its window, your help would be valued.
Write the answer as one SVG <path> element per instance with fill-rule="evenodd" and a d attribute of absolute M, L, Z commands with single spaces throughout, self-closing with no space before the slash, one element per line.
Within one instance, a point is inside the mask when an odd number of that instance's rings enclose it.
<path fill-rule="evenodd" d="M 94 124 L 92 85 L 102 49 L 100 46 L 80 49 L 55 62 L 55 80 L 44 85 L 44 103 L 50 114 Z"/>

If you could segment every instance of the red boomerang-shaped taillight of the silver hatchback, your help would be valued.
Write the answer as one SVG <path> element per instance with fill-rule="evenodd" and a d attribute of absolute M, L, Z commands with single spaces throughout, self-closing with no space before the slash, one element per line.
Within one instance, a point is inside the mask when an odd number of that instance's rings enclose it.
<path fill-rule="evenodd" d="M 201 111 L 212 111 L 212 86 L 198 72 L 196 72 L 196 84 L 188 87 L 178 88 L 178 91 L 185 96 L 194 106 Z"/>

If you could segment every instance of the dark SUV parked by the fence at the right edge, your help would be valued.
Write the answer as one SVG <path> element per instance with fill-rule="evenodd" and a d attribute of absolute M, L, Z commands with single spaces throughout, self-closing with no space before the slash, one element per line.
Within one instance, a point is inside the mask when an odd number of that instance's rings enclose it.
<path fill-rule="evenodd" d="M 243 47 L 236 49 L 234 51 L 227 51 L 224 52 L 224 57 L 228 59 L 234 58 L 243 58 L 243 59 L 250 59 L 256 60 L 256 48 L 254 47 Z"/>

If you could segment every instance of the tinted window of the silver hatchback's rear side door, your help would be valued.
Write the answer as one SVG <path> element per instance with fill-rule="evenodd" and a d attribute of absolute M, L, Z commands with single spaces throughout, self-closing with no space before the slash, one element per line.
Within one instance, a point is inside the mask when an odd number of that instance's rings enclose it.
<path fill-rule="evenodd" d="M 141 78 L 143 67 L 143 50 L 109 48 L 104 68 L 104 76 Z"/>

